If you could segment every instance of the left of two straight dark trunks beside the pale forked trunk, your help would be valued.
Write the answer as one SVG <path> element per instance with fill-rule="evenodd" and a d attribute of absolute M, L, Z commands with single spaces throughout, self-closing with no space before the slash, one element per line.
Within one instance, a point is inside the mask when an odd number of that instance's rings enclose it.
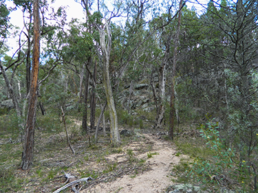
<path fill-rule="evenodd" d="M 89 59 L 90 60 L 90 59 Z M 87 65 L 87 64 L 85 64 Z M 85 71 L 85 91 L 84 91 L 84 110 L 83 110 L 83 133 L 87 133 L 87 102 L 89 88 L 89 71 Z"/>

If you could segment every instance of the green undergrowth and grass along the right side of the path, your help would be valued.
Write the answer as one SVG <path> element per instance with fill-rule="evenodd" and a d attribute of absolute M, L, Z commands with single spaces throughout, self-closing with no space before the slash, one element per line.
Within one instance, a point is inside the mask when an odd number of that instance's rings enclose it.
<path fill-rule="evenodd" d="M 255 171 L 248 161 L 239 163 L 235 148 L 225 146 L 219 135 L 219 126 L 209 117 L 201 124 L 200 136 L 179 138 L 175 141 L 178 150 L 189 155 L 191 161 L 181 160 L 173 172 L 179 183 L 193 183 L 212 192 L 222 188 L 237 192 L 255 192 Z"/>

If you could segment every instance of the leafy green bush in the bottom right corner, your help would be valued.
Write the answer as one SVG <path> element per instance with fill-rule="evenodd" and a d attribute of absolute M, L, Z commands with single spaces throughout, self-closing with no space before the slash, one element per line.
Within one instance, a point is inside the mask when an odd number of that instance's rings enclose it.
<path fill-rule="evenodd" d="M 214 119 L 208 119 L 208 123 L 199 129 L 206 146 L 213 152 L 213 159 L 196 157 L 192 167 L 187 169 L 188 177 L 215 191 L 227 187 L 239 192 L 254 192 L 255 166 L 250 161 L 239 161 L 235 149 L 224 145 Z"/>

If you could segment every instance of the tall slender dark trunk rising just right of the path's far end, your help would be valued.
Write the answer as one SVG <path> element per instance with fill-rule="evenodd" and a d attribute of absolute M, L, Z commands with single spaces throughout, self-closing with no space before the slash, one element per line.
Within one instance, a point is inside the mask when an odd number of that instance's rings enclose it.
<path fill-rule="evenodd" d="M 179 12 L 178 12 L 178 29 L 175 34 L 175 48 L 173 56 L 173 67 L 172 67 L 172 77 L 171 77 L 171 98 L 170 98 L 170 113 L 169 113 L 169 138 L 173 140 L 174 138 L 174 118 L 175 118 L 175 67 L 178 60 L 178 45 L 179 45 L 179 34 L 180 34 L 180 23 L 181 23 L 181 10 L 182 10 L 183 0 L 180 0 Z"/>

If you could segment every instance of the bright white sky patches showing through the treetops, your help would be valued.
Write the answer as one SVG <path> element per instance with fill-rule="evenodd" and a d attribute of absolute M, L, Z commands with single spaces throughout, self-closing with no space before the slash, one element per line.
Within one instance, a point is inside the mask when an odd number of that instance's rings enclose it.
<path fill-rule="evenodd" d="M 50 1 L 50 0 L 49 0 Z M 195 0 L 189 0 L 186 5 L 188 8 L 191 8 L 194 6 L 197 10 L 203 10 L 204 8 L 202 5 L 198 5 L 197 3 L 190 3 L 190 1 Z M 200 2 L 206 4 L 208 0 L 199 0 Z M 12 1 L 6 1 L 6 4 L 8 7 L 14 7 L 14 4 Z M 72 18 L 77 18 L 83 21 L 83 18 L 85 18 L 85 14 L 83 12 L 83 7 L 80 5 L 80 3 L 76 3 L 74 0 L 55 0 L 54 4 L 51 5 L 51 7 L 59 8 L 61 6 L 66 6 L 66 12 L 67 12 L 67 22 L 71 21 Z M 13 11 L 10 13 L 10 23 L 12 25 L 20 27 L 20 29 L 23 28 L 23 13 L 18 8 L 16 11 Z M 18 48 L 17 41 L 19 40 L 19 37 L 17 36 L 11 36 L 8 38 L 8 45 L 10 47 L 10 51 L 8 52 L 9 56 L 12 56 L 16 49 Z"/>

